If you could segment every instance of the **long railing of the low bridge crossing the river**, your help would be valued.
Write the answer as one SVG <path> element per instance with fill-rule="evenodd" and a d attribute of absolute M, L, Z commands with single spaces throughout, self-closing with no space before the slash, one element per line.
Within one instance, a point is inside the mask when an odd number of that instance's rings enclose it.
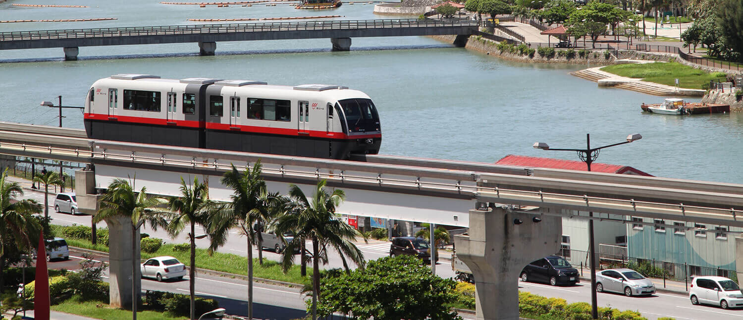
<path fill-rule="evenodd" d="M 35 39 L 74 39 L 113 36 L 154 36 L 163 34 L 194 33 L 238 33 L 291 30 L 344 30 L 376 29 L 400 27 L 458 27 L 476 26 L 477 22 L 467 19 L 373 19 L 373 20 L 331 20 L 308 22 L 257 22 L 216 25 L 166 25 L 152 27 L 106 27 L 94 29 L 63 29 L 13 31 L 0 33 L 0 41 Z"/>

